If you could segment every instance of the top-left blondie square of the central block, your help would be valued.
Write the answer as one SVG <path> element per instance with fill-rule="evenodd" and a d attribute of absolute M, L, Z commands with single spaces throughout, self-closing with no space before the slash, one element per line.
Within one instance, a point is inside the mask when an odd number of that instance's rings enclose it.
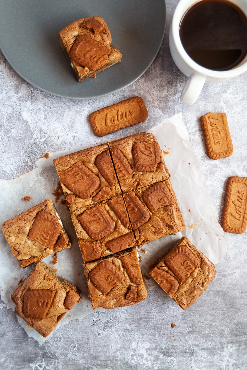
<path fill-rule="evenodd" d="M 71 211 L 121 194 L 107 144 L 53 161 Z"/>

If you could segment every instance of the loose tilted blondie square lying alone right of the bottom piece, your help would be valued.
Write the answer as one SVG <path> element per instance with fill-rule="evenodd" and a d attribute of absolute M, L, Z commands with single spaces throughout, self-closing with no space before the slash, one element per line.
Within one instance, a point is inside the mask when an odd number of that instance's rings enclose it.
<path fill-rule="evenodd" d="M 151 269 L 150 275 L 185 310 L 215 278 L 215 266 L 183 236 Z"/>

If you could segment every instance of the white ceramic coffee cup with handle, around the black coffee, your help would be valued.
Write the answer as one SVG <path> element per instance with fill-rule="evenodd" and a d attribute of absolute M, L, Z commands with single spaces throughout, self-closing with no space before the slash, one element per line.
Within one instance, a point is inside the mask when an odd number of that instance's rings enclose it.
<path fill-rule="evenodd" d="M 223 82 L 247 71 L 247 56 L 240 64 L 230 70 L 213 71 L 197 64 L 186 53 L 179 36 L 179 24 L 185 11 L 199 1 L 200 0 L 179 1 L 172 18 L 169 32 L 169 47 L 172 58 L 179 70 L 188 77 L 180 96 L 180 101 L 188 105 L 192 105 L 196 101 L 205 83 L 212 84 Z M 247 16 L 246 0 L 231 0 L 230 2 L 236 4 Z"/>

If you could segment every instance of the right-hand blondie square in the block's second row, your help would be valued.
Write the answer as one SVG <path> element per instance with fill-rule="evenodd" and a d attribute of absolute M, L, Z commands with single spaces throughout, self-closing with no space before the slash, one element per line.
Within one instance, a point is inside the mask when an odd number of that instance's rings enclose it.
<path fill-rule="evenodd" d="M 169 180 L 123 194 L 137 245 L 185 229 Z"/>

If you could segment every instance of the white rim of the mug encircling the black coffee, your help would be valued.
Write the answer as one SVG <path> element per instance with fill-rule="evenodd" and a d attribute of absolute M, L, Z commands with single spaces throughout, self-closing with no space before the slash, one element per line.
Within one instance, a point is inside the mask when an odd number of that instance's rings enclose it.
<path fill-rule="evenodd" d="M 176 44 L 176 48 L 178 49 L 179 54 L 183 58 L 183 60 L 188 64 L 193 70 L 197 71 L 198 73 L 213 77 L 213 78 L 231 78 L 236 77 L 244 72 L 247 71 L 247 56 L 244 58 L 244 61 L 241 62 L 240 65 L 237 65 L 236 67 L 228 70 L 228 71 L 214 71 L 207 69 L 205 67 L 202 67 L 201 65 L 197 64 L 195 61 L 193 61 L 189 55 L 186 53 L 185 49 L 183 48 L 183 45 L 181 43 L 181 39 L 179 36 L 179 24 L 182 19 L 183 14 L 185 11 L 191 7 L 193 4 L 198 3 L 202 0 L 180 0 L 178 5 L 176 6 L 173 18 L 172 18 L 172 33 L 174 35 L 174 43 Z M 234 0 L 227 0 L 233 4 L 235 4 Z M 186 5 L 187 4 L 187 5 Z M 239 6 L 238 4 L 236 4 Z M 239 6 L 240 8 L 240 6 Z M 241 8 L 240 8 L 241 9 Z M 247 13 L 243 9 L 241 9 L 244 14 Z"/>

